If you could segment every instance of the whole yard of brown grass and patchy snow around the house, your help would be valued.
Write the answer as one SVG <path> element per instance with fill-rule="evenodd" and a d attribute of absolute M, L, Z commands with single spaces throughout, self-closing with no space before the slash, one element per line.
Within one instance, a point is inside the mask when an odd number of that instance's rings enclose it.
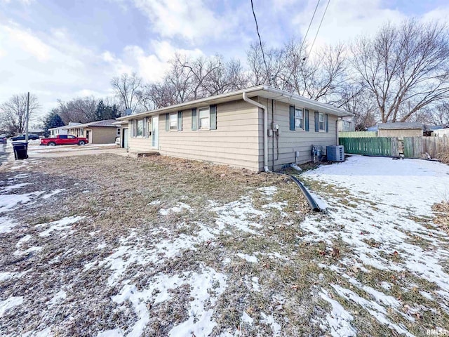
<path fill-rule="evenodd" d="M 283 177 L 182 159 L 2 166 L 0 335 L 444 333 L 449 166 L 353 156 L 300 178 L 327 214 Z"/>

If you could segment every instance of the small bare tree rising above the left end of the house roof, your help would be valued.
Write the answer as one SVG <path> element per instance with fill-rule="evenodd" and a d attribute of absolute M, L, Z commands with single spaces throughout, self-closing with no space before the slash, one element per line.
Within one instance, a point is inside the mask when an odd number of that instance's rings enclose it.
<path fill-rule="evenodd" d="M 125 109 L 133 113 L 139 110 L 139 92 L 142 89 L 142 78 L 133 72 L 132 74 L 121 74 L 111 80 L 114 94 L 121 101 Z"/>

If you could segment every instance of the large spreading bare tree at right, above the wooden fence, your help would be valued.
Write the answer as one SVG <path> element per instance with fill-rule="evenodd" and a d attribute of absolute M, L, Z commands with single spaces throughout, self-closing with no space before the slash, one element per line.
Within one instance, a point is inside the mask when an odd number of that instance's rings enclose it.
<path fill-rule="evenodd" d="M 448 29 L 406 20 L 352 46 L 351 63 L 372 93 L 382 122 L 407 121 L 449 95 Z"/>

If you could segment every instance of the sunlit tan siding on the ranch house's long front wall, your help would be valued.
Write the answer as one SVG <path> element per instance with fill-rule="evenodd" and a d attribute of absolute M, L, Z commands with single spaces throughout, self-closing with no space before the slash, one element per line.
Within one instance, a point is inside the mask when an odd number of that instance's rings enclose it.
<path fill-rule="evenodd" d="M 182 112 L 182 131 L 166 131 L 165 114 L 161 114 L 159 152 L 257 171 L 260 166 L 257 118 L 257 107 L 243 100 L 217 105 L 217 130 L 192 131 L 189 109 Z"/>

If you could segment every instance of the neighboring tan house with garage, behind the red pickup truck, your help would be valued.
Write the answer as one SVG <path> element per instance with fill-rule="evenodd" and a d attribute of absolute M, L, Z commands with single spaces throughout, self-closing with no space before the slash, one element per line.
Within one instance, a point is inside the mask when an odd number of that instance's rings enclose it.
<path fill-rule="evenodd" d="M 114 144 L 115 138 L 120 137 L 120 126 L 114 125 L 115 119 L 92 121 L 86 124 L 65 126 L 69 135 L 86 137 L 89 144 Z"/>

